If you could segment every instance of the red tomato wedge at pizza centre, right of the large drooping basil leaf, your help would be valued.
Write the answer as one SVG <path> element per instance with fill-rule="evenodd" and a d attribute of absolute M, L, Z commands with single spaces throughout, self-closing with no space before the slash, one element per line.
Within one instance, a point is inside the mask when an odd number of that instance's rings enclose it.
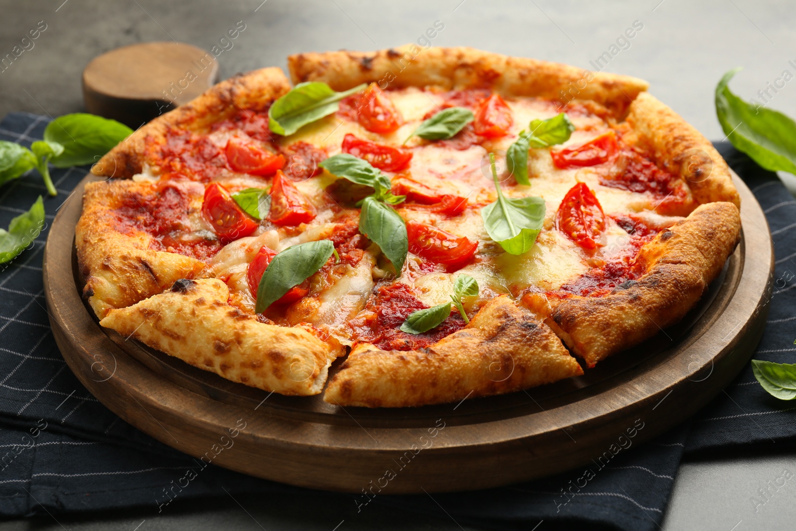
<path fill-rule="evenodd" d="M 478 249 L 478 242 L 470 241 L 466 236 L 456 236 L 416 221 L 407 221 L 406 232 L 410 251 L 451 269 L 458 269 L 472 260 Z"/>

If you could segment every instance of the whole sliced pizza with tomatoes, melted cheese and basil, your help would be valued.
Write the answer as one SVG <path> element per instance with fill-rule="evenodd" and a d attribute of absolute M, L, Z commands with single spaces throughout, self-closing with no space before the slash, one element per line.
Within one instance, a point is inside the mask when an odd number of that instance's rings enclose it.
<path fill-rule="evenodd" d="M 439 404 L 652 338 L 739 242 L 727 164 L 642 80 L 470 48 L 288 66 L 94 166 L 76 248 L 101 326 L 268 392 Z"/>

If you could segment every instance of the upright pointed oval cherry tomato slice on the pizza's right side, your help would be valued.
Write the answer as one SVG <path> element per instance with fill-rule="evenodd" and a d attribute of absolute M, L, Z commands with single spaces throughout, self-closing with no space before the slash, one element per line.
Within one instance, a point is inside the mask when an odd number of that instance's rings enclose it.
<path fill-rule="evenodd" d="M 595 194 L 583 182 L 572 186 L 556 213 L 556 228 L 584 249 L 597 248 L 605 230 L 605 214 Z"/>

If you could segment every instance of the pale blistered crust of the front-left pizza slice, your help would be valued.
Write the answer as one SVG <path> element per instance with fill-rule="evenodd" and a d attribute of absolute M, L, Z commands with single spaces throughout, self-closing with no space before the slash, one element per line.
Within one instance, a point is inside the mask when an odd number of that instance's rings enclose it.
<path fill-rule="evenodd" d="M 219 279 L 180 280 L 170 291 L 111 310 L 100 325 L 230 381 L 316 395 L 341 353 L 298 326 L 258 322 L 227 302 Z"/>

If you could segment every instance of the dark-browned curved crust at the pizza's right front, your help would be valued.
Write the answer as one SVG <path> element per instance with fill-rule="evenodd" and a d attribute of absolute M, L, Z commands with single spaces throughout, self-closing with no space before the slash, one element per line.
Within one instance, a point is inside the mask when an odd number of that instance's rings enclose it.
<path fill-rule="evenodd" d="M 740 240 L 740 214 L 729 202 L 700 205 L 642 247 L 638 280 L 604 297 L 526 299 L 589 367 L 679 322 L 724 267 Z"/>

